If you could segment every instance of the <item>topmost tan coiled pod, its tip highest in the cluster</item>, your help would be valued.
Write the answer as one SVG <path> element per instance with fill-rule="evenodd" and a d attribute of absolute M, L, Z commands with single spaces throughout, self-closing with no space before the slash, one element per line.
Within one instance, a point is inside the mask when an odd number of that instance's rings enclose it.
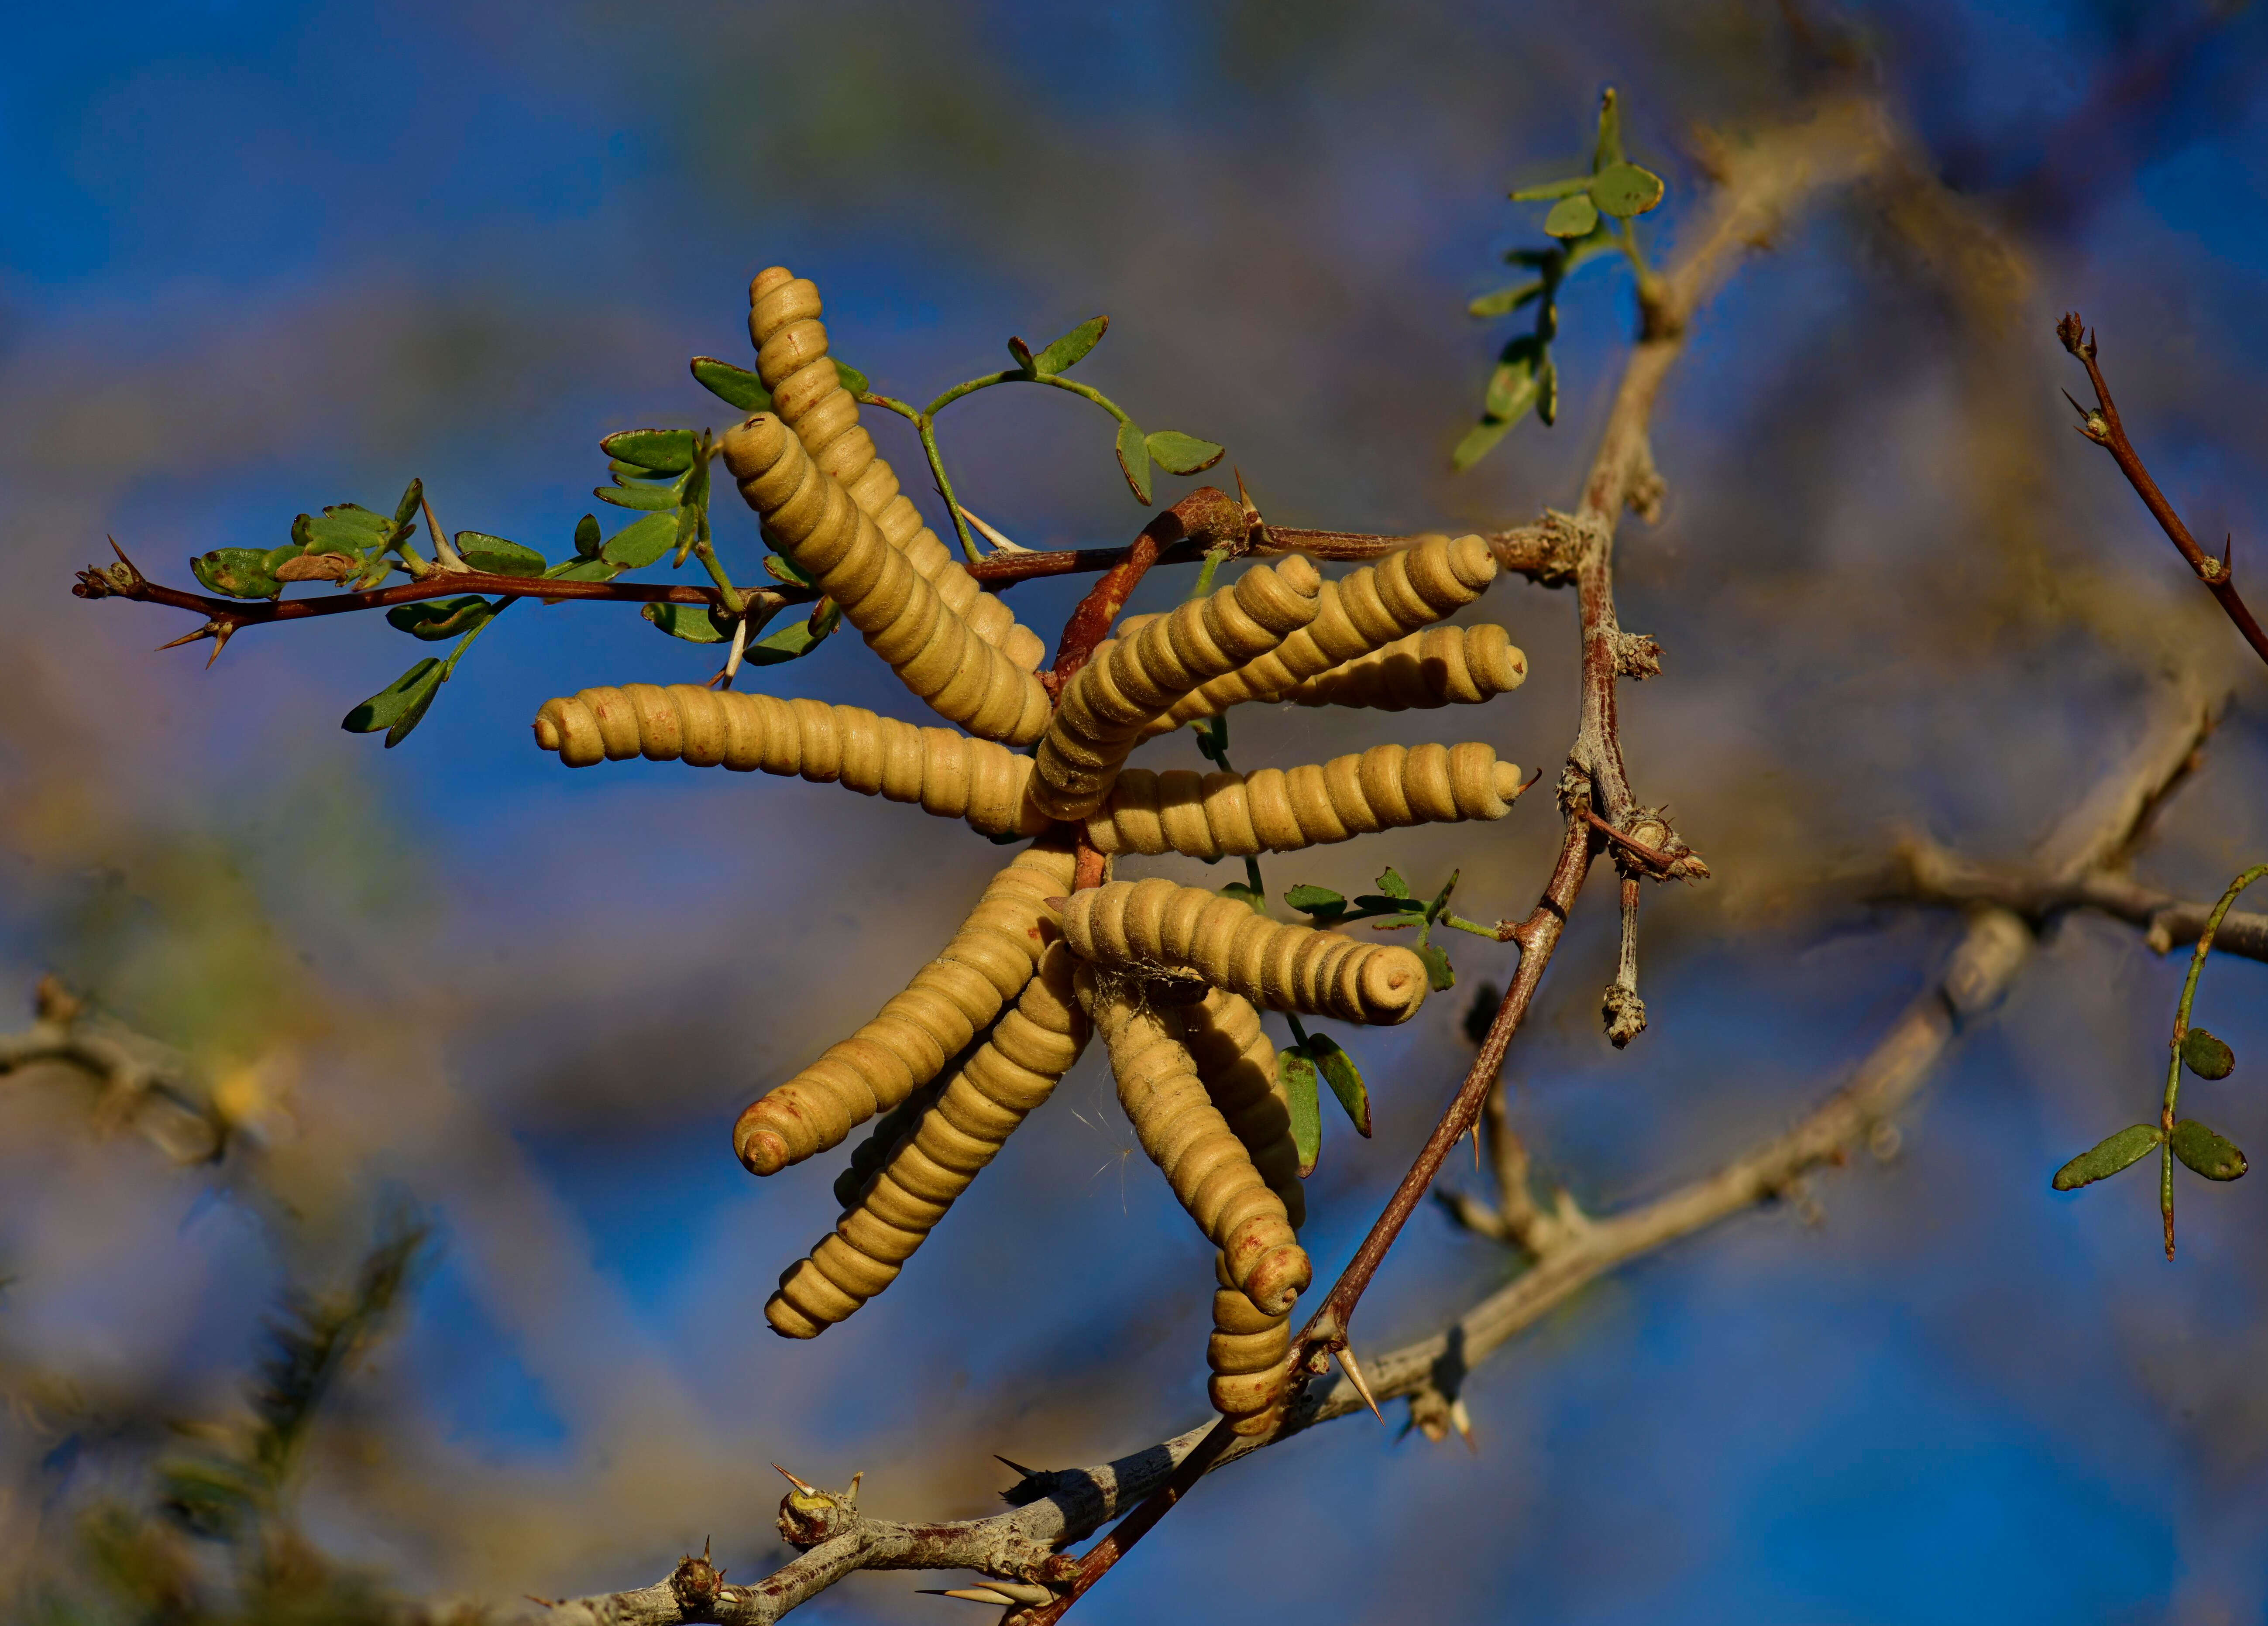
<path fill-rule="evenodd" d="M 1046 655 L 1039 633 L 1018 626 L 1009 608 L 984 592 L 937 533 L 921 524 L 921 513 L 898 490 L 896 472 L 860 426 L 857 399 L 841 386 L 828 356 L 819 288 L 785 265 L 758 272 L 748 283 L 748 338 L 755 342 L 755 372 L 771 390 L 771 408 L 796 431 L 812 460 L 841 481 L 882 540 L 905 553 L 914 571 L 937 587 L 946 608 L 968 621 L 971 633 L 1032 671 Z"/>

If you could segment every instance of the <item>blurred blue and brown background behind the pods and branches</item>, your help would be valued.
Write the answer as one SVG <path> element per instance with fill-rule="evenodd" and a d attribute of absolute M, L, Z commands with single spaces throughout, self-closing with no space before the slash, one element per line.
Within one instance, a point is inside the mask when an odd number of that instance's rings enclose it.
<path fill-rule="evenodd" d="M 1665 399 L 1672 510 L 1626 528 L 1622 603 L 1669 667 L 1626 698 L 1626 737 L 1640 794 L 1719 880 L 1649 903 L 1653 1030 L 1626 1055 L 1597 1036 L 1610 896 L 1588 898 L 1513 1059 L 1545 1177 L 1642 1200 L 1826 1093 L 1957 932 L 1826 882 L 1898 828 L 2021 853 L 2132 742 L 2168 646 L 2223 662 L 2236 701 L 2143 871 L 2216 891 L 2268 853 L 2261 674 L 2062 429 L 2077 374 L 2050 324 L 2100 324 L 2152 467 L 2243 571 L 2268 535 L 2268 25 L 1914 0 L 1814 27 L 1792 43 L 1760 0 L 14 18 L 0 982 L 54 966 L 215 1066 L 290 1061 L 270 1150 L 218 1204 L 7 1107 L 7 1347 L 220 1404 L 277 1281 L 411 1195 L 447 1252 L 342 1401 L 356 1449 L 320 1463 L 311 1519 L 404 1587 L 494 1599 L 644 1583 L 710 1533 L 735 1574 L 767 1569 L 771 1460 L 866 1470 L 887 1515 L 973 1515 L 1002 1483 L 989 1451 L 1089 1463 L 1195 1422 L 1204 1250 L 1127 1157 L 1093 1059 L 885 1299 L 816 1345 L 760 1322 L 832 1218 L 832 1166 L 751 1182 L 730 1118 L 932 952 L 998 857 L 982 839 L 916 841 L 912 812 L 801 782 L 565 773 L 526 746 L 547 696 L 714 664 L 626 610 L 515 610 L 383 753 L 336 728 L 426 653 L 383 621 L 247 633 L 206 674 L 150 653 L 186 621 L 73 601 L 68 571 L 109 533 L 186 585 L 191 553 L 390 503 L 411 474 L 445 524 L 558 556 L 601 433 L 723 422 L 685 358 L 746 358 L 744 286 L 769 263 L 816 277 L 837 354 L 905 395 L 1109 311 L 1082 376 L 1145 426 L 1227 442 L 1286 524 L 1567 508 L 1631 327 L 1617 270 L 1569 288 L 1560 424 L 1467 476 L 1447 449 L 1504 338 L 1463 302 L 1538 236 L 1504 190 L 1588 147 L 1601 84 L 1672 181 L 1653 245 L 1703 186 L 1694 129 L 1785 107 L 1837 39 L 1953 204 L 1916 227 L 1857 200 L 1789 229 Z M 1987 297 L 1994 265 L 2014 270 Z M 1141 510 L 1082 413 L 1012 390 L 955 408 L 971 506 L 1032 547 L 1129 537 Z M 753 574 L 735 503 L 719 537 Z M 1075 592 L 1014 603 L 1052 630 Z M 1479 728 L 1551 767 L 1572 601 L 1506 583 L 1479 612 L 1535 671 L 1483 719 L 1329 719 L 1327 748 L 1318 714 L 1241 719 L 1241 762 Z M 914 714 L 850 640 L 764 687 Z M 1488 832 L 1277 859 L 1270 882 L 1458 864 L 1492 918 L 1529 905 L 1554 846 L 1538 796 Z M 1479 943 L 1458 966 L 1504 975 Z M 1474 1374 L 1472 1456 L 1340 1422 L 1209 1481 L 1082 1617 L 2257 1619 L 2268 1186 L 2186 1182 L 2173 1268 L 2146 1177 L 2046 1191 L 2148 1113 L 2177 982 L 2125 928 L 2064 925 L 1903 1154 L 1817 1182 L 1821 1225 L 1783 1204 L 1599 1284 Z M 1379 1129 L 1327 1125 L 1318 1272 L 1447 1100 L 1461 1011 L 1463 986 L 1349 1039 Z M 2261 966 L 2216 962 L 2200 1014 L 2268 1055 Z M 2193 1086 L 2254 1150 L 2259 1066 Z M 261 1218 L 261 1182 L 297 1218 Z M 1429 1211 L 1363 1345 L 1508 1272 Z M 860 1576 L 814 1617 L 948 1608 L 912 1585 Z"/>

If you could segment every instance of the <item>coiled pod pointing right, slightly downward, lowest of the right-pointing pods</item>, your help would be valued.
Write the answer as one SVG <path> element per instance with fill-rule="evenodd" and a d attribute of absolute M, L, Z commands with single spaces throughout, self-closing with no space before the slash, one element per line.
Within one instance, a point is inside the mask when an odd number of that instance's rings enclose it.
<path fill-rule="evenodd" d="M 1064 903 L 1080 959 L 1141 977 L 1195 971 L 1270 1011 L 1406 1023 L 1424 1002 L 1424 962 L 1406 948 L 1284 925 L 1204 887 L 1114 880 Z M 1100 1023 L 1100 1018 L 1098 1018 Z"/>

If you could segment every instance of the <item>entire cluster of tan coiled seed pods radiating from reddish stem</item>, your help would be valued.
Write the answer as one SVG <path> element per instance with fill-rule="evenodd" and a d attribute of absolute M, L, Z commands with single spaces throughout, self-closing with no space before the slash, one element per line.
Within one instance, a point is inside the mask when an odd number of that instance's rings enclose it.
<path fill-rule="evenodd" d="M 882 1293 L 1100 1034 L 1143 1152 L 1213 1250 L 1211 1401 L 1238 1433 L 1268 1433 L 1313 1270 L 1261 1011 L 1404 1023 L 1427 966 L 1236 896 L 1111 880 L 1109 866 L 1501 819 L 1522 776 L 1488 744 L 1372 746 L 1256 773 L 1157 773 L 1127 757 L 1247 701 L 1406 710 L 1517 687 L 1526 658 L 1504 628 L 1438 626 L 1488 590 L 1497 560 L 1467 535 L 1420 540 L 1338 581 L 1300 556 L 1254 565 L 1168 615 L 1127 619 L 1050 703 L 1041 640 L 921 524 L 860 424 L 819 290 L 773 268 L 748 295 L 773 410 L 719 440 L 723 465 L 764 537 L 957 728 L 628 683 L 544 703 L 535 742 L 567 767 L 649 757 L 839 782 L 1023 841 L 903 991 L 739 1116 L 733 1145 L 755 1175 L 873 1123 L 835 1182 L 835 1229 L 780 1277 L 764 1318 L 816 1338 Z M 1077 884 L 1082 846 L 1102 859 L 1100 884 L 1091 873 Z"/>

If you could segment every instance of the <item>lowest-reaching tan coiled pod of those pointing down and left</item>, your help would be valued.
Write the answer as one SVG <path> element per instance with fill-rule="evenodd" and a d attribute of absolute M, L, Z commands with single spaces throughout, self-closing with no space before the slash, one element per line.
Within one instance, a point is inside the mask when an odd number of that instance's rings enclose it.
<path fill-rule="evenodd" d="M 1086 1048 L 1086 1011 L 1070 989 L 1077 962 L 1050 943 L 1016 1007 L 955 1068 L 912 1134 L 807 1259 L 780 1277 L 764 1320 L 785 1338 L 816 1338 L 898 1279 L 930 1229 L 993 1161 L 1025 1113 L 1055 1091 Z"/>

